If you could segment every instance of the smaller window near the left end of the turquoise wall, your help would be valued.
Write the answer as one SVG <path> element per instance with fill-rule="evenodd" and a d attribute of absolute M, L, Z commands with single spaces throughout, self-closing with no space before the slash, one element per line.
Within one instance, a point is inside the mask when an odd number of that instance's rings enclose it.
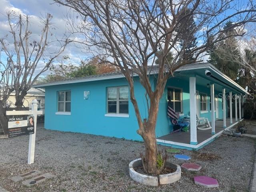
<path fill-rule="evenodd" d="M 71 91 L 58 92 L 58 112 L 71 111 Z"/>

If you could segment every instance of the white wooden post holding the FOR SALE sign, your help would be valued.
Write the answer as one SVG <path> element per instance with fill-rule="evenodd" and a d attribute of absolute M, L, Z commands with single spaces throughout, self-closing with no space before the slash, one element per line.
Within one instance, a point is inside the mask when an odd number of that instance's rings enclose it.
<path fill-rule="evenodd" d="M 32 101 L 32 110 L 29 110 L 29 111 L 6 111 L 6 115 L 33 115 L 34 116 L 34 134 L 29 135 L 28 164 L 34 163 L 37 115 L 43 114 L 42 111 L 37 110 L 37 103 L 38 103 L 37 100 L 34 99 Z"/>

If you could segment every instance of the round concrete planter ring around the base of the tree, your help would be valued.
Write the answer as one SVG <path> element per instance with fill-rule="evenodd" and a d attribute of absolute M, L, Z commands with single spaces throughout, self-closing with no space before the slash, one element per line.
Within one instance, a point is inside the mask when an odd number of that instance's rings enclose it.
<path fill-rule="evenodd" d="M 136 168 L 138 166 L 142 166 L 141 158 L 130 162 L 130 164 L 129 164 L 130 178 L 132 178 L 132 180 L 134 180 L 138 183 L 144 184 L 144 185 L 149 185 L 149 186 L 158 186 L 158 184 L 164 185 L 164 184 L 176 182 L 176 181 L 180 180 L 180 178 L 181 178 L 180 166 L 176 165 L 176 164 L 172 164 L 170 162 L 166 162 L 166 166 L 168 168 L 172 168 L 176 171 L 173 173 L 161 174 L 159 176 L 148 176 L 148 175 L 138 173 L 134 170 L 134 168 Z M 159 180 L 159 182 L 158 182 L 158 180 Z"/>

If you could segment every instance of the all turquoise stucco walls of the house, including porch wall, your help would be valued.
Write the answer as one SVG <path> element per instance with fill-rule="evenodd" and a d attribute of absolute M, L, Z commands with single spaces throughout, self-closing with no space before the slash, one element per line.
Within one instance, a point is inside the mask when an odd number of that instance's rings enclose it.
<path fill-rule="evenodd" d="M 154 88 L 156 80 L 150 79 Z M 125 79 L 104 80 L 98 82 L 87 82 L 79 84 L 48 86 L 45 92 L 45 128 L 67 132 L 81 132 L 125 138 L 129 140 L 142 140 L 137 134 L 138 122 L 134 112 L 134 107 L 129 100 L 129 118 L 106 117 L 107 103 L 106 90 L 112 86 L 128 85 Z M 182 112 L 189 115 L 189 82 L 186 78 L 170 78 L 166 84 L 164 95 L 160 100 L 159 113 L 156 125 L 156 136 L 163 136 L 172 131 L 172 125 L 166 115 L 167 110 L 167 90 L 168 86 L 182 89 Z M 134 80 L 135 96 L 143 118 L 147 118 L 147 104 L 145 90 L 141 86 L 138 78 Z M 210 88 L 196 86 L 200 92 L 206 93 L 209 99 Z M 57 115 L 57 93 L 58 91 L 71 90 L 71 115 Z M 90 99 L 84 100 L 84 91 L 90 91 Z M 219 92 L 215 92 L 219 94 Z M 219 118 L 222 119 L 222 100 L 218 99 Z M 211 121 L 210 102 L 207 102 L 208 112 L 200 114 Z"/>

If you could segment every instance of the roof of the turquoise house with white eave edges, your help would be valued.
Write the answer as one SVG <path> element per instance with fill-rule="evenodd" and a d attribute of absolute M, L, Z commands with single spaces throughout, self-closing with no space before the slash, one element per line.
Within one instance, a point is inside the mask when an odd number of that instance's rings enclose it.
<path fill-rule="evenodd" d="M 158 66 L 152 66 L 149 68 L 148 74 L 157 74 L 157 68 Z M 204 75 L 205 70 L 210 70 L 212 72 L 212 77 L 206 77 Z M 244 88 L 242 88 L 240 85 L 238 85 L 236 82 L 234 82 L 231 78 L 220 72 L 216 67 L 214 67 L 210 63 L 194 63 L 194 64 L 188 64 L 184 65 L 180 68 L 178 68 L 174 73 L 179 73 L 183 75 L 191 75 L 196 74 L 198 76 L 204 76 L 204 78 L 208 78 L 210 82 L 212 82 L 211 78 L 213 79 L 213 82 L 218 80 L 218 82 L 225 86 L 229 86 L 230 90 L 233 90 L 235 92 L 240 92 L 244 94 L 249 94 Z M 138 76 L 134 74 L 134 76 Z M 99 74 L 99 75 L 92 75 L 92 76 L 86 76 L 81 78 L 73 78 L 70 80 L 62 80 L 62 81 L 55 81 L 55 82 L 49 82 L 44 84 L 36 84 L 33 87 L 35 88 L 45 88 L 48 86 L 57 86 L 57 85 L 66 85 L 66 84 L 76 84 L 76 83 L 83 83 L 83 82 L 94 82 L 94 81 L 102 81 L 102 80 L 114 80 L 114 79 L 120 79 L 125 78 L 124 74 L 122 74 L 121 71 L 106 73 L 106 74 Z"/>

